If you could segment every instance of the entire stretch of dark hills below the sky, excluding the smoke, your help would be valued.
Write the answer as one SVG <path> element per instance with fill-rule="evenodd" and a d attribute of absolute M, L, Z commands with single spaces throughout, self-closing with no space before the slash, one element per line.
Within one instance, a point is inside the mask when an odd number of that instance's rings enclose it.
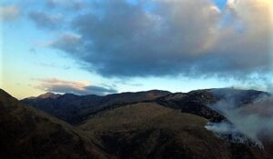
<path fill-rule="evenodd" d="M 0 158 L 271 159 L 269 137 L 261 146 L 240 132 L 207 129 L 232 124 L 217 103 L 243 107 L 267 95 L 236 89 L 47 93 L 20 102 L 1 90 Z"/>

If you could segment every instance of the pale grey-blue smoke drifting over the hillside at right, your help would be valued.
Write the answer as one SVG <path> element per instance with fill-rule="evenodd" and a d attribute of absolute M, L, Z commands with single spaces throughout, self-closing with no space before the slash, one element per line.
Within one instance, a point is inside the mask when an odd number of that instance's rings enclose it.
<path fill-rule="evenodd" d="M 261 95 L 254 101 L 248 101 L 248 104 L 238 104 L 238 99 L 249 100 L 227 94 L 216 104 L 210 105 L 225 115 L 231 124 L 207 124 L 206 128 L 217 134 L 242 133 L 257 143 L 266 138 L 273 140 L 273 97 Z"/>

